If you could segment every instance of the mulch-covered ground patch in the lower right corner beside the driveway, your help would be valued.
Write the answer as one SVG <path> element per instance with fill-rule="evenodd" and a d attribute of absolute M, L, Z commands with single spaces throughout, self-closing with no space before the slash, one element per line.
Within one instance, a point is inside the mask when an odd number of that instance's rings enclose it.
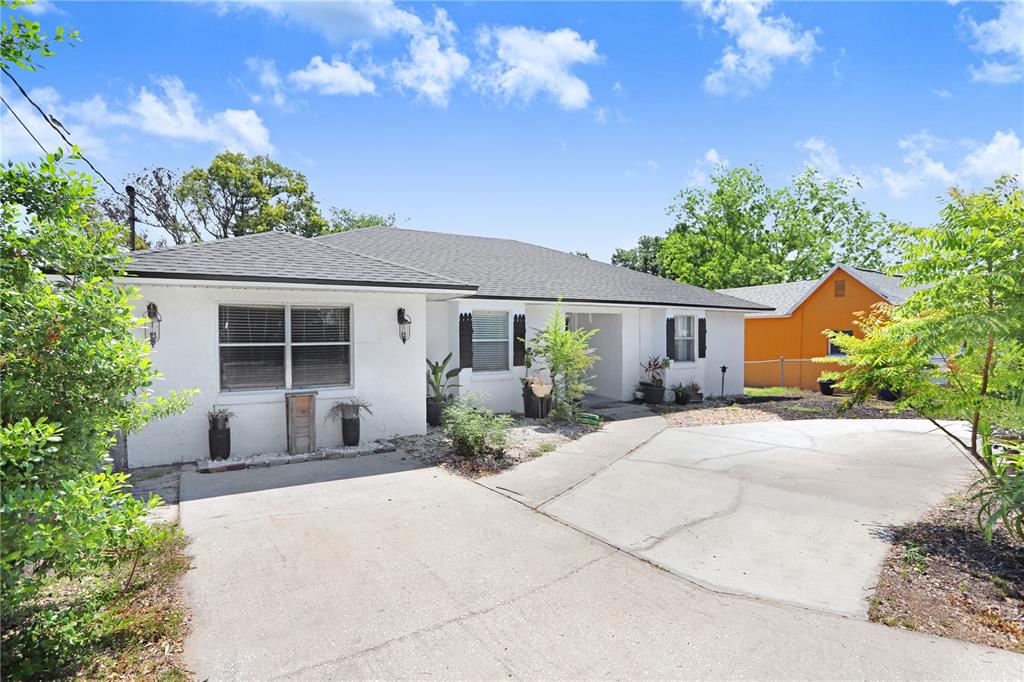
<path fill-rule="evenodd" d="M 977 512 L 961 493 L 891 528 L 868 617 L 1024 653 L 1024 543 L 999 528 L 989 544 Z"/>

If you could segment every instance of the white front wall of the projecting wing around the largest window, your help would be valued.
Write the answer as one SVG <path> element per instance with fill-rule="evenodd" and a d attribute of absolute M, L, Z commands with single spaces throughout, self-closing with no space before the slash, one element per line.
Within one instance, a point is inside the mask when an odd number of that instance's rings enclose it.
<path fill-rule="evenodd" d="M 259 289 L 249 287 L 137 286 L 136 314 L 154 302 L 163 317 L 161 338 L 152 358 L 163 377 L 157 394 L 197 388 L 200 393 L 183 415 L 153 422 L 128 436 L 130 466 L 190 462 L 209 456 L 207 412 L 214 406 L 234 413 L 230 420 L 231 454 L 284 452 L 288 447 L 284 390 L 220 392 L 217 310 L 221 303 L 350 305 L 352 307 L 352 385 L 318 391 L 316 444 L 341 443 L 340 422 L 327 412 L 340 398 L 357 396 L 372 403 L 362 415 L 362 441 L 426 430 L 424 374 L 429 334 L 424 294 Z M 413 317 L 412 337 L 402 345 L 396 311 Z"/>

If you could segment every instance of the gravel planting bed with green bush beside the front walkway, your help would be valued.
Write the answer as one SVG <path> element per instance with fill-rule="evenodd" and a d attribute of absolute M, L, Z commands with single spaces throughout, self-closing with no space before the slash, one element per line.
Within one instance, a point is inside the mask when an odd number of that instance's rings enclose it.
<path fill-rule="evenodd" d="M 551 419 L 518 418 L 509 429 L 503 453 L 478 458 L 461 458 L 452 452 L 444 433 L 430 427 L 426 435 L 400 436 L 390 442 L 420 462 L 438 465 L 463 476 L 477 478 L 511 469 L 520 462 L 554 452 L 559 445 L 596 430 L 593 426 Z"/>

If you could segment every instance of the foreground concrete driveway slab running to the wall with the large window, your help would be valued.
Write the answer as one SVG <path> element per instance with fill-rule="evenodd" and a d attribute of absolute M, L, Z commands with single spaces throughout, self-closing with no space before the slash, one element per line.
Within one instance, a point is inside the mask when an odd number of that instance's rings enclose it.
<path fill-rule="evenodd" d="M 630 442 L 620 424 L 591 464 Z M 201 680 L 1019 678 L 1009 652 L 707 590 L 510 495 L 400 453 L 184 474 L 186 663 Z"/>

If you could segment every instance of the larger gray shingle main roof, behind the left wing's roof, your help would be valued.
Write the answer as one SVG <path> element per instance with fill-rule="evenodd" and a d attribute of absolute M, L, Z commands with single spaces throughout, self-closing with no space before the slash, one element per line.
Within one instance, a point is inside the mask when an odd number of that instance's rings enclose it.
<path fill-rule="evenodd" d="M 690 285 L 513 240 L 368 227 L 316 238 L 473 282 L 480 298 L 765 309 Z"/>

